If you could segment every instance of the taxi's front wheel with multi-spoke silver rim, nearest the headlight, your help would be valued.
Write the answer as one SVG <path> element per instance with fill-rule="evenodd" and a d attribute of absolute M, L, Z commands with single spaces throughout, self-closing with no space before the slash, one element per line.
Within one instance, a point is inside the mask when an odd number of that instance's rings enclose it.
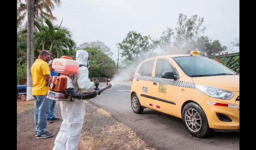
<path fill-rule="evenodd" d="M 182 121 L 193 137 L 207 137 L 212 131 L 203 109 L 194 102 L 186 104 L 183 108 Z"/>

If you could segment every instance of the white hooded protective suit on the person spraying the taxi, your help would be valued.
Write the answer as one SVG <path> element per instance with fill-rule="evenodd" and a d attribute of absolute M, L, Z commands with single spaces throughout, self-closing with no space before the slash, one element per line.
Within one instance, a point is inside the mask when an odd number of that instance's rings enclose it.
<path fill-rule="evenodd" d="M 76 89 L 83 92 L 95 85 L 95 82 L 89 80 L 88 57 L 88 52 L 76 50 L 76 61 L 82 66 L 78 70 Z M 53 150 L 77 150 L 85 115 L 83 101 L 78 99 L 74 99 L 74 101 L 61 101 L 60 107 L 63 122 L 54 141 L 55 146 Z"/>

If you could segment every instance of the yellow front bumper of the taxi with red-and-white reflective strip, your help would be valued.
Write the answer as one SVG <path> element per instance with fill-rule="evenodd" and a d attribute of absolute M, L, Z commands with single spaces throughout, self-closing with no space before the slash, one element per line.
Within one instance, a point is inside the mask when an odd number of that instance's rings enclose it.
<path fill-rule="evenodd" d="M 236 95 L 234 95 L 235 97 Z M 239 130 L 239 105 L 231 100 L 208 97 L 202 104 L 209 127 L 218 130 Z"/>

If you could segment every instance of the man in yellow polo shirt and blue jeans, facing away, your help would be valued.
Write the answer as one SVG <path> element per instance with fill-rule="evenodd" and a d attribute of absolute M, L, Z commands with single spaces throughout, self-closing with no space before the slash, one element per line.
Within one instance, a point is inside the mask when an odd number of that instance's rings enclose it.
<path fill-rule="evenodd" d="M 35 100 L 35 137 L 37 139 L 52 137 L 51 133 L 45 131 L 50 104 L 50 101 L 46 98 L 48 86 L 45 87 L 50 79 L 50 67 L 48 65 L 50 55 L 51 54 L 48 51 L 42 50 L 39 53 L 38 59 L 36 59 L 31 67 L 31 76 L 33 80 L 32 95 Z"/>

